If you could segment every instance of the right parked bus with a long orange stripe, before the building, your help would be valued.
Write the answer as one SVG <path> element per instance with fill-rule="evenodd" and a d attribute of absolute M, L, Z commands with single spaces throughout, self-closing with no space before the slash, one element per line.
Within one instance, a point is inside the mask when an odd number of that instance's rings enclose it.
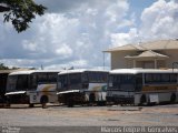
<path fill-rule="evenodd" d="M 178 102 L 178 71 L 118 69 L 109 72 L 107 101 L 118 104 Z"/>

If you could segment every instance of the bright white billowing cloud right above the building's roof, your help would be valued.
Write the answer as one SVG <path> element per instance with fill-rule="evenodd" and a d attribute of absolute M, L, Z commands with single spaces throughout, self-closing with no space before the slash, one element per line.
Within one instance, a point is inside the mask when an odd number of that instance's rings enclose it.
<path fill-rule="evenodd" d="M 130 28 L 128 32 L 112 33 L 112 45 L 178 38 L 178 3 L 175 0 L 156 1 L 142 11 L 140 20 L 138 27 Z"/>

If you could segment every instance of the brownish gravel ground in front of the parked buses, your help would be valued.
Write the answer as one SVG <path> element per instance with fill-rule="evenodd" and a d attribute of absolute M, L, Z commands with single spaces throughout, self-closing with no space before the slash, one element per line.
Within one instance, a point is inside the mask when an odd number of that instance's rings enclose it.
<path fill-rule="evenodd" d="M 0 109 L 0 126 L 178 126 L 178 104 Z"/>

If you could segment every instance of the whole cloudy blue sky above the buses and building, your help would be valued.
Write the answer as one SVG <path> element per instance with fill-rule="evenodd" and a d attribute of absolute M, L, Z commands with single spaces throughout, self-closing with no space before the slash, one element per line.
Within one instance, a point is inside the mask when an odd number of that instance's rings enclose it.
<path fill-rule="evenodd" d="M 0 14 L 0 63 L 110 69 L 103 50 L 178 38 L 177 0 L 34 0 L 48 8 L 18 33 Z M 105 59 L 105 60 L 103 60 Z"/>

